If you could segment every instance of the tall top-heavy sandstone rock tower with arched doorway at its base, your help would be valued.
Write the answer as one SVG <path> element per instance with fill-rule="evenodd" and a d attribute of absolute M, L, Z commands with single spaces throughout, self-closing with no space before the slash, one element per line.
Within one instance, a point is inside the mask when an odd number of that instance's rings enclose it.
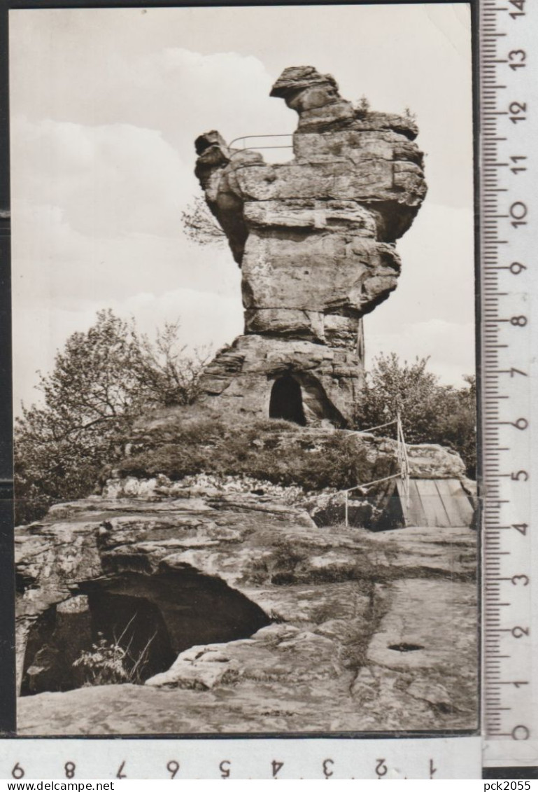
<path fill-rule="evenodd" d="M 267 164 L 200 135 L 195 173 L 242 268 L 244 335 L 206 370 L 218 410 L 346 426 L 364 377 L 362 317 L 396 288 L 395 241 L 426 194 L 413 120 L 354 109 L 330 74 L 284 70 L 294 158 Z"/>

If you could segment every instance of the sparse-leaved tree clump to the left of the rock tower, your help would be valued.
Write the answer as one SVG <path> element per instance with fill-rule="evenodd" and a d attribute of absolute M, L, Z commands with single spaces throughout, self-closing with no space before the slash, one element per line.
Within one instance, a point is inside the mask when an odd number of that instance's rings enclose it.
<path fill-rule="evenodd" d="M 86 333 L 68 338 L 53 371 L 40 376 L 43 404 L 23 406 L 16 421 L 17 522 L 88 495 L 144 409 L 196 398 L 206 359 L 186 355 L 178 329 L 165 325 L 152 345 L 134 322 L 101 310 Z"/>

